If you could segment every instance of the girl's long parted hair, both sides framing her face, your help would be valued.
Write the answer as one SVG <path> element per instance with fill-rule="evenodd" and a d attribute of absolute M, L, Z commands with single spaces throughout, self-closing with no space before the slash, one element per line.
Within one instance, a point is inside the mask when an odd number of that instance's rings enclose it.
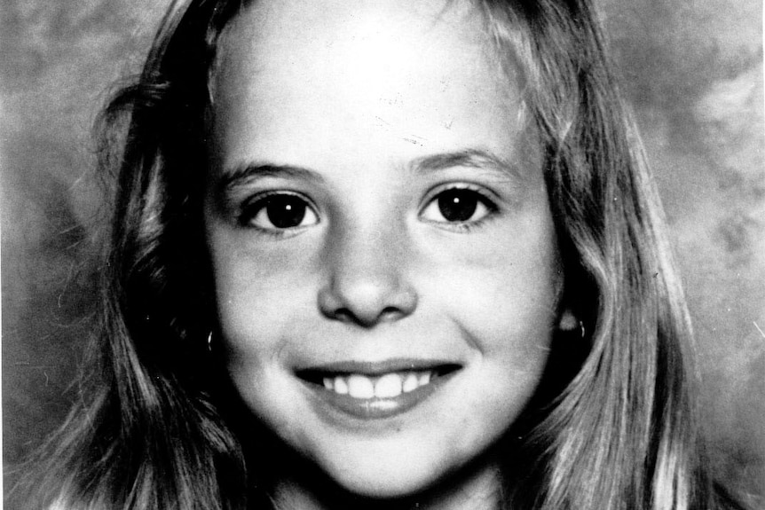
<path fill-rule="evenodd" d="M 512 508 L 734 508 L 696 433 L 692 335 L 642 146 L 590 0 L 471 0 L 523 78 L 564 261 L 560 333 L 498 448 Z M 204 229 L 210 77 L 250 2 L 178 0 L 98 123 L 111 226 L 83 397 L 44 451 L 39 506 L 268 508 L 216 331 Z M 247 453 L 245 453 L 247 452 Z M 43 487 L 45 490 L 40 490 Z"/>

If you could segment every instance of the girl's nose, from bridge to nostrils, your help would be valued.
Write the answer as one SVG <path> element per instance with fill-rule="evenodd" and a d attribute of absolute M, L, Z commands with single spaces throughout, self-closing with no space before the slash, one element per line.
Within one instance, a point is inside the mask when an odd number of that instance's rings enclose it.
<path fill-rule="evenodd" d="M 319 310 L 362 327 L 410 315 L 418 296 L 406 278 L 406 247 L 396 232 L 370 225 L 343 229 L 327 246 L 327 279 L 319 289 Z"/>

